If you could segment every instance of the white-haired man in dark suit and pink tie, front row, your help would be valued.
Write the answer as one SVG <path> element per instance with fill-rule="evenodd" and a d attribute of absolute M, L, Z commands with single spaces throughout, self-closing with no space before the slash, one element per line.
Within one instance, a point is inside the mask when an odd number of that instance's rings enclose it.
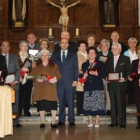
<path fill-rule="evenodd" d="M 111 124 L 110 127 L 117 126 L 118 123 L 123 129 L 126 127 L 126 99 L 128 75 L 131 73 L 130 59 L 121 55 L 121 45 L 112 46 L 113 57 L 107 63 L 107 73 L 119 73 L 119 80 L 110 81 L 108 90 L 111 100 Z"/>

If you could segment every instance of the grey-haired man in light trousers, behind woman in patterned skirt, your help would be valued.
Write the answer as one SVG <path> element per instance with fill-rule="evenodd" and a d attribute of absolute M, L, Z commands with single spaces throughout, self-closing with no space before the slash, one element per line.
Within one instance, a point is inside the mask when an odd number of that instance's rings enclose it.
<path fill-rule="evenodd" d="M 105 66 L 107 65 L 107 62 L 112 57 L 112 52 L 109 51 L 110 43 L 107 39 L 103 39 L 100 42 L 100 52 L 98 52 L 96 59 L 99 61 L 103 61 L 105 63 Z M 107 89 L 107 82 L 105 79 L 103 79 L 104 84 L 104 90 L 105 90 L 105 97 L 106 97 L 106 114 L 110 115 L 110 97 L 109 92 Z"/>

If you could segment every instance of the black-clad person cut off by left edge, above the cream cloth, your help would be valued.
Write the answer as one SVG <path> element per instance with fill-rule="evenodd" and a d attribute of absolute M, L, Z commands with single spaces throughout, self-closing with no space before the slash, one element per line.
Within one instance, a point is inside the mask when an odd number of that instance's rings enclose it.
<path fill-rule="evenodd" d="M 0 85 L 4 84 L 5 78 L 8 74 L 5 57 L 0 54 Z"/>

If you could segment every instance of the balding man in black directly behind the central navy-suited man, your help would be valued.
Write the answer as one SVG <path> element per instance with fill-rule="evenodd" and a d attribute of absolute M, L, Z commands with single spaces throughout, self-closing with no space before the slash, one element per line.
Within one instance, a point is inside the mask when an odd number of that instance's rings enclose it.
<path fill-rule="evenodd" d="M 70 52 L 74 52 L 74 53 L 77 53 L 77 51 L 78 51 L 78 46 L 77 46 L 77 44 L 75 43 L 75 42 L 73 42 L 73 41 L 70 41 L 69 39 L 70 39 L 70 34 L 69 34 L 69 32 L 68 31 L 62 31 L 61 32 L 61 39 L 63 39 L 63 38 L 66 38 L 69 42 L 69 48 L 68 48 L 68 50 L 70 51 Z M 57 43 L 55 46 L 54 46 L 54 53 L 57 53 L 57 52 L 59 52 L 61 50 L 61 47 L 60 47 L 60 43 Z"/>

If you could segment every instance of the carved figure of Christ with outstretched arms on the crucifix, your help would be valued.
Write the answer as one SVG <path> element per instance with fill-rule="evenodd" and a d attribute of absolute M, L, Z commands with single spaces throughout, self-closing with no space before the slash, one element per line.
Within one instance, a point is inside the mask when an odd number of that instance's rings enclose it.
<path fill-rule="evenodd" d="M 62 24 L 62 31 L 67 31 L 68 22 L 69 22 L 68 9 L 70 7 L 75 6 L 76 4 L 80 3 L 81 1 L 78 0 L 77 2 L 72 3 L 68 6 L 66 5 L 65 0 L 60 0 L 60 5 L 57 5 L 50 0 L 47 0 L 47 2 L 50 3 L 51 5 L 53 5 L 54 7 L 57 7 L 60 9 L 61 16 L 59 18 L 59 24 Z"/>

